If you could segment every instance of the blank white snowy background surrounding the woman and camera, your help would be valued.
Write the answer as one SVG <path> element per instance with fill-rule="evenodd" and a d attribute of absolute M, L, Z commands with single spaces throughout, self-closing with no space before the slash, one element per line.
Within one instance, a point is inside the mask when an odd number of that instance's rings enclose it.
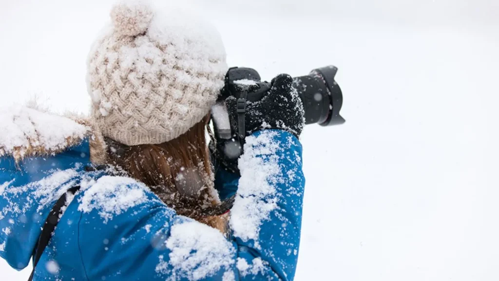
<path fill-rule="evenodd" d="M 0 104 L 86 112 L 112 2 L 0 0 Z M 347 122 L 302 135 L 297 280 L 499 280 L 497 0 L 197 2 L 231 65 L 339 67 Z"/>

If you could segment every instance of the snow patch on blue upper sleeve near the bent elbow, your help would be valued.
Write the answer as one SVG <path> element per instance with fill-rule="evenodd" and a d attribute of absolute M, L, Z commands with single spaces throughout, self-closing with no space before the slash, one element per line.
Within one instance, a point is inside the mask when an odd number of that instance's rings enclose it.
<path fill-rule="evenodd" d="M 199 280 L 213 276 L 222 268 L 229 270 L 236 253 L 217 229 L 197 221 L 173 225 L 166 246 L 171 253 L 166 261 L 160 257 L 156 271 L 168 274 L 172 280 Z"/>

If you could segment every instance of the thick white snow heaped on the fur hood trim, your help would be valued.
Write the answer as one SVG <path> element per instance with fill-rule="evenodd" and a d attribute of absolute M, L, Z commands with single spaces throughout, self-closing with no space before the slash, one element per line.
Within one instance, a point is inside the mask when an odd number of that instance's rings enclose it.
<path fill-rule="evenodd" d="M 90 128 L 76 121 L 25 106 L 0 109 L 0 156 L 55 153 L 81 141 Z"/>

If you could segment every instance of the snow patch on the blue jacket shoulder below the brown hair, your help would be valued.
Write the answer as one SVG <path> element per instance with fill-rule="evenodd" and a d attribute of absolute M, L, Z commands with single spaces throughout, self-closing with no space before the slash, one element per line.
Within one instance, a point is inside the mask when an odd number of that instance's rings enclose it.
<path fill-rule="evenodd" d="M 104 223 L 112 219 L 113 215 L 147 200 L 147 186 L 130 177 L 106 175 L 97 181 L 83 181 L 81 187 L 85 191 L 78 199 L 78 210 L 90 212 L 97 209 Z"/>

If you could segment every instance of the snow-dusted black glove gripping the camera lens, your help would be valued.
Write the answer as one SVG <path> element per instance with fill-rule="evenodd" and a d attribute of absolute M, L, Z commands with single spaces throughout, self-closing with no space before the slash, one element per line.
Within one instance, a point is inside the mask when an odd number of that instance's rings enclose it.
<path fill-rule="evenodd" d="M 299 137 L 305 124 L 304 110 L 292 83 L 291 76 L 280 74 L 272 79 L 270 89 L 260 100 L 247 101 L 246 136 L 261 129 L 281 129 Z M 236 130 L 238 130 L 237 102 L 238 99 L 234 96 L 226 99 L 231 125 Z"/>

